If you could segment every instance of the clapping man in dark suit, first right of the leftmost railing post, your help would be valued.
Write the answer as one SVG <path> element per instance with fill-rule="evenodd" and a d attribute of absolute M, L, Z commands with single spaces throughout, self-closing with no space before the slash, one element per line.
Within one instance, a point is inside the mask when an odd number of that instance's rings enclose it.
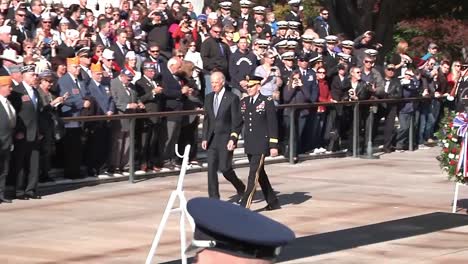
<path fill-rule="evenodd" d="M 161 112 L 164 109 L 163 84 L 161 80 L 155 82 L 154 63 L 145 61 L 143 63 L 143 76 L 135 83 L 135 90 L 138 100 L 145 105 L 148 113 Z M 163 123 L 160 117 L 151 117 L 144 120 L 144 131 L 141 138 L 141 170 L 160 170 L 160 162 L 164 150 L 164 140 L 162 139 Z"/>

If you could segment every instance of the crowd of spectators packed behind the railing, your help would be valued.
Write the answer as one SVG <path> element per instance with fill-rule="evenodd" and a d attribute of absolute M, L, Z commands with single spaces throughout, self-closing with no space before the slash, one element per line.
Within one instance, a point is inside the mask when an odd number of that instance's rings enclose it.
<path fill-rule="evenodd" d="M 304 19 L 300 0 L 288 2 L 284 21 L 275 19 L 271 6 L 249 0 L 239 2 L 238 16 L 227 1 L 217 3 L 218 9 L 207 5 L 201 14 L 194 12 L 191 0 L 170 5 L 167 0 L 122 0 L 120 6 L 105 4 L 102 14 L 86 0 L 79 2 L 67 7 L 45 6 L 41 0 L 0 4 L 0 76 L 11 76 L 8 99 L 18 116 L 8 180 L 18 196 L 25 186 L 26 193 L 34 194 L 37 180 L 52 180 L 52 166 L 63 166 L 71 179 L 128 169 L 128 120 L 64 124 L 61 117 L 201 109 L 212 91 L 213 71 L 222 72 L 226 87 L 239 97 L 246 93 L 246 75 L 262 77 L 261 93 L 276 105 L 433 97 L 362 107 L 362 131 L 369 131 L 371 112 L 375 126 L 385 120 L 385 152 L 408 149 L 411 117 L 419 148 L 425 148 L 434 140 L 444 107 L 456 107 L 467 86 L 463 63 L 442 58 L 437 44 L 430 43 L 428 53 L 416 58 L 402 40 L 395 55 L 377 65 L 382 45 L 374 32 L 350 40 L 330 27 L 325 8 L 318 17 Z M 34 107 L 25 110 L 21 105 L 28 101 Z M 346 147 L 350 107 L 301 109 L 293 116 L 290 111 L 278 111 L 284 154 L 289 152 L 291 117 L 296 122 L 295 156 Z M 37 117 L 31 118 L 34 113 Z M 199 119 L 138 120 L 137 169 L 177 168 L 177 143 L 192 144 L 190 162 L 197 165 Z"/>

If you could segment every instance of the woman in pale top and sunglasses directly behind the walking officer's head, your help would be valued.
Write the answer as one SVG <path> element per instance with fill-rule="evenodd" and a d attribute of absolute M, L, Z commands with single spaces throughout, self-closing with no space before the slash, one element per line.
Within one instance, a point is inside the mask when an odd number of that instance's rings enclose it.
<path fill-rule="evenodd" d="M 278 67 L 274 66 L 276 54 L 268 50 L 263 54 L 261 65 L 255 69 L 254 75 L 262 77 L 260 93 L 264 96 L 270 96 L 279 103 L 280 91 L 279 88 L 283 84 Z"/>

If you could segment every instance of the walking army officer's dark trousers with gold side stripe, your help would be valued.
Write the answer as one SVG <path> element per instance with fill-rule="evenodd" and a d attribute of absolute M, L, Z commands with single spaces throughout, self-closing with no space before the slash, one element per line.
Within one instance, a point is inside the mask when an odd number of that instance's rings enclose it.
<path fill-rule="evenodd" d="M 249 179 L 247 182 L 247 189 L 241 200 L 241 206 L 250 208 L 258 183 L 262 188 L 266 202 L 268 204 L 276 203 L 278 198 L 265 172 L 265 154 L 247 154 L 247 157 L 249 159 Z"/>

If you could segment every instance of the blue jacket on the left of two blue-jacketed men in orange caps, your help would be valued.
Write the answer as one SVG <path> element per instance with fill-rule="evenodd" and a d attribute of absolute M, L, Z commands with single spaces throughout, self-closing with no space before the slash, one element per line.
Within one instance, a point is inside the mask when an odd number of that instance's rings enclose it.
<path fill-rule="evenodd" d="M 62 116 L 80 116 L 83 111 L 84 100 L 89 100 L 89 91 L 86 84 L 78 81 L 80 87 L 76 86 L 70 74 L 62 76 L 57 83 L 60 96 L 68 92 L 68 99 L 63 103 Z M 67 122 L 65 127 L 79 127 L 79 122 Z"/>

